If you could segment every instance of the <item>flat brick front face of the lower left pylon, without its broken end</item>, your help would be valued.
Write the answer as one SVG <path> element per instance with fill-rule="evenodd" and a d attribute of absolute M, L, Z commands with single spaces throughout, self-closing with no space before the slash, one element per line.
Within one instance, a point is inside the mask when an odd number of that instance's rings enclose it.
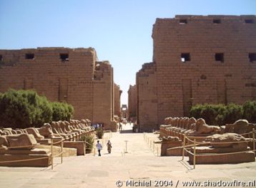
<path fill-rule="evenodd" d="M 34 59 L 26 54 L 33 53 Z M 60 53 L 69 54 L 62 61 Z M 75 118 L 92 119 L 92 75 L 94 53 L 69 49 L 24 49 L 0 51 L 0 90 L 35 89 L 51 101 L 66 101 L 75 109 Z"/>

